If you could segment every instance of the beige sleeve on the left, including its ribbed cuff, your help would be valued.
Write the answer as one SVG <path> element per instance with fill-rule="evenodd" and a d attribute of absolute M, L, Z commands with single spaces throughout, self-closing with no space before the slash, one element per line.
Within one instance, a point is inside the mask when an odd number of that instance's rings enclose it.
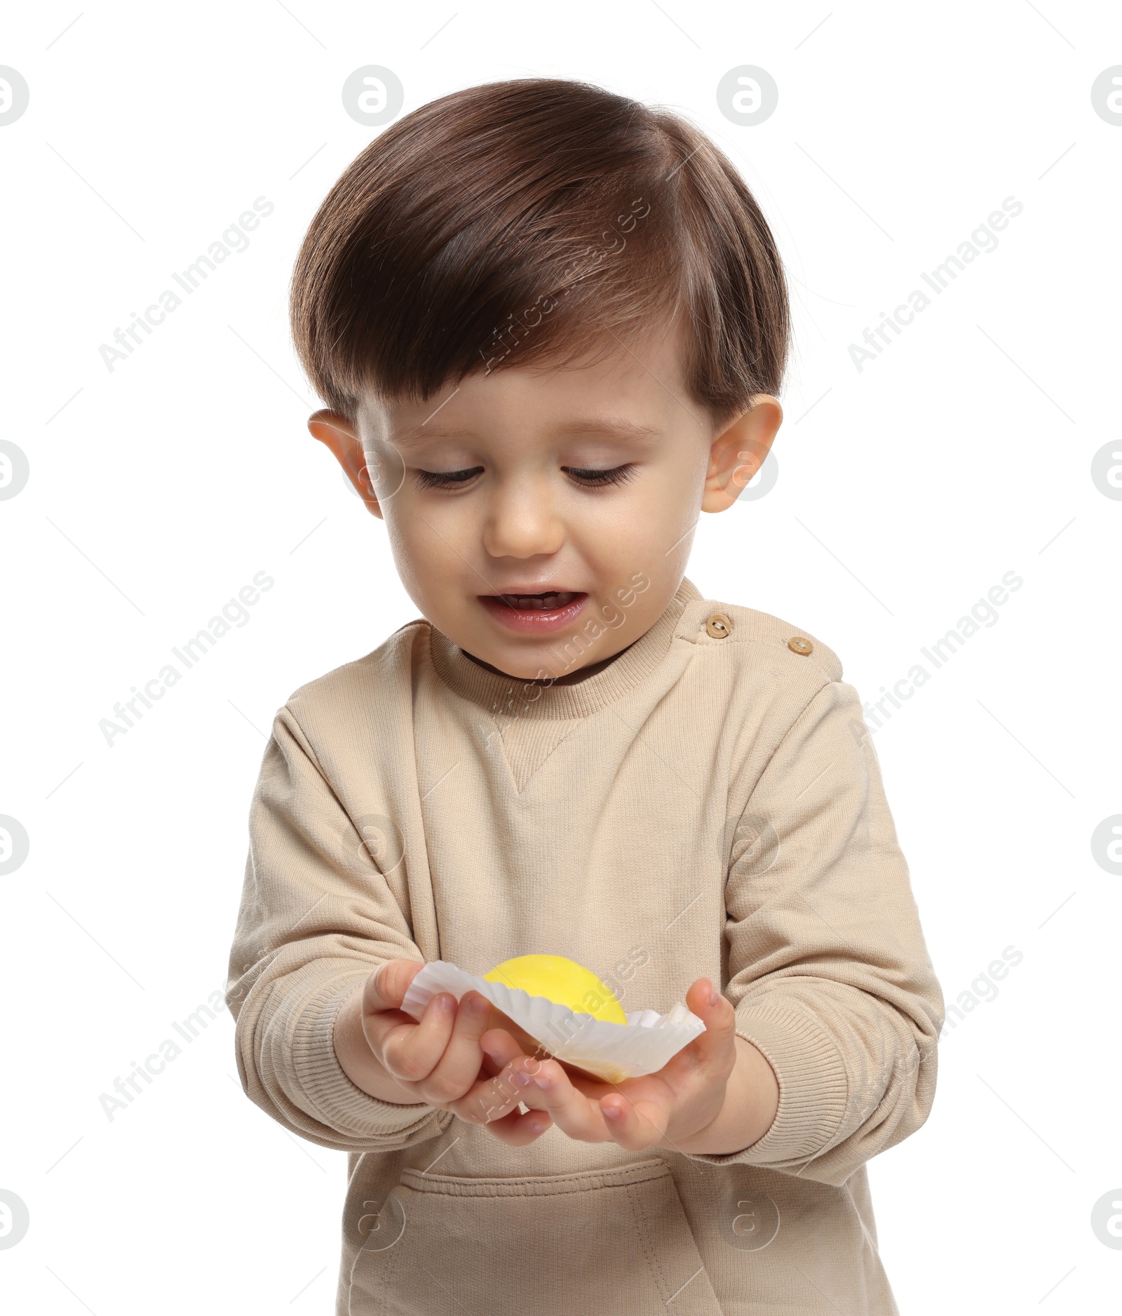
<path fill-rule="evenodd" d="M 425 957 L 283 708 L 250 809 L 226 988 L 246 1095 L 293 1133 L 339 1150 L 388 1152 L 437 1137 L 450 1115 L 370 1096 L 335 1057 L 339 1005 L 372 969 L 397 958 Z"/>

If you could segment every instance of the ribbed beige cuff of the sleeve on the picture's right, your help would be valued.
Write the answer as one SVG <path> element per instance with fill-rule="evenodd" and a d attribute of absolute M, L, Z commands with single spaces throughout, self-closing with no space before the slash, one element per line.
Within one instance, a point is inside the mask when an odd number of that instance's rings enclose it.
<path fill-rule="evenodd" d="M 819 1155 L 842 1123 L 848 1096 L 834 1040 L 810 1015 L 755 1003 L 737 1011 L 737 1034 L 775 1070 L 779 1109 L 767 1133 L 743 1152 L 691 1153 L 691 1158 L 710 1165 L 776 1165 Z"/>

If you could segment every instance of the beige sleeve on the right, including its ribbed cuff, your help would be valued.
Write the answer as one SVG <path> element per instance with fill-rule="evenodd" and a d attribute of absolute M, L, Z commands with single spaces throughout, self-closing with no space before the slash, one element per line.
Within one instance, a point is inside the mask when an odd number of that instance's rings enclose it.
<path fill-rule="evenodd" d="M 717 1165 L 841 1184 L 927 1117 L 943 1000 L 856 691 L 827 682 L 752 790 L 726 888 L 737 1032 L 780 1086 Z"/>

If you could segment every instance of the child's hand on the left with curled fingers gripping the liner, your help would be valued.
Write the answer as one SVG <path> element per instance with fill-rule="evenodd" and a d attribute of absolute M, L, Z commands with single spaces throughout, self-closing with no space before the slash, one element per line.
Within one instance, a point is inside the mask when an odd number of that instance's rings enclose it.
<path fill-rule="evenodd" d="M 518 1112 L 524 1086 L 509 1073 L 500 1075 L 502 1065 L 484 1055 L 479 1040 L 492 1025 L 491 1003 L 472 991 L 456 1005 L 452 995 L 441 992 L 420 1023 L 400 1008 L 422 967 L 414 959 L 391 959 L 343 1003 L 334 1033 L 343 1071 L 371 1096 L 399 1104 L 424 1101 L 484 1124 L 504 1142 L 533 1142 L 551 1120 L 543 1111 Z"/>

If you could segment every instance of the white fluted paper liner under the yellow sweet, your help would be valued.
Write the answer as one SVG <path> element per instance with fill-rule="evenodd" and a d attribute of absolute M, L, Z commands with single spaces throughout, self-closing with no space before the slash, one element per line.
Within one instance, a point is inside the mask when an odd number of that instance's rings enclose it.
<path fill-rule="evenodd" d="M 630 1011 L 625 1026 L 577 1013 L 546 996 L 531 996 L 520 987 L 489 983 L 443 959 L 425 965 L 409 984 L 401 1008 L 420 1019 L 439 992 L 451 992 L 459 1000 L 468 991 L 484 995 L 559 1061 L 577 1065 L 608 1083 L 654 1074 L 705 1032 L 705 1024 L 681 1001 L 668 1015 Z"/>

